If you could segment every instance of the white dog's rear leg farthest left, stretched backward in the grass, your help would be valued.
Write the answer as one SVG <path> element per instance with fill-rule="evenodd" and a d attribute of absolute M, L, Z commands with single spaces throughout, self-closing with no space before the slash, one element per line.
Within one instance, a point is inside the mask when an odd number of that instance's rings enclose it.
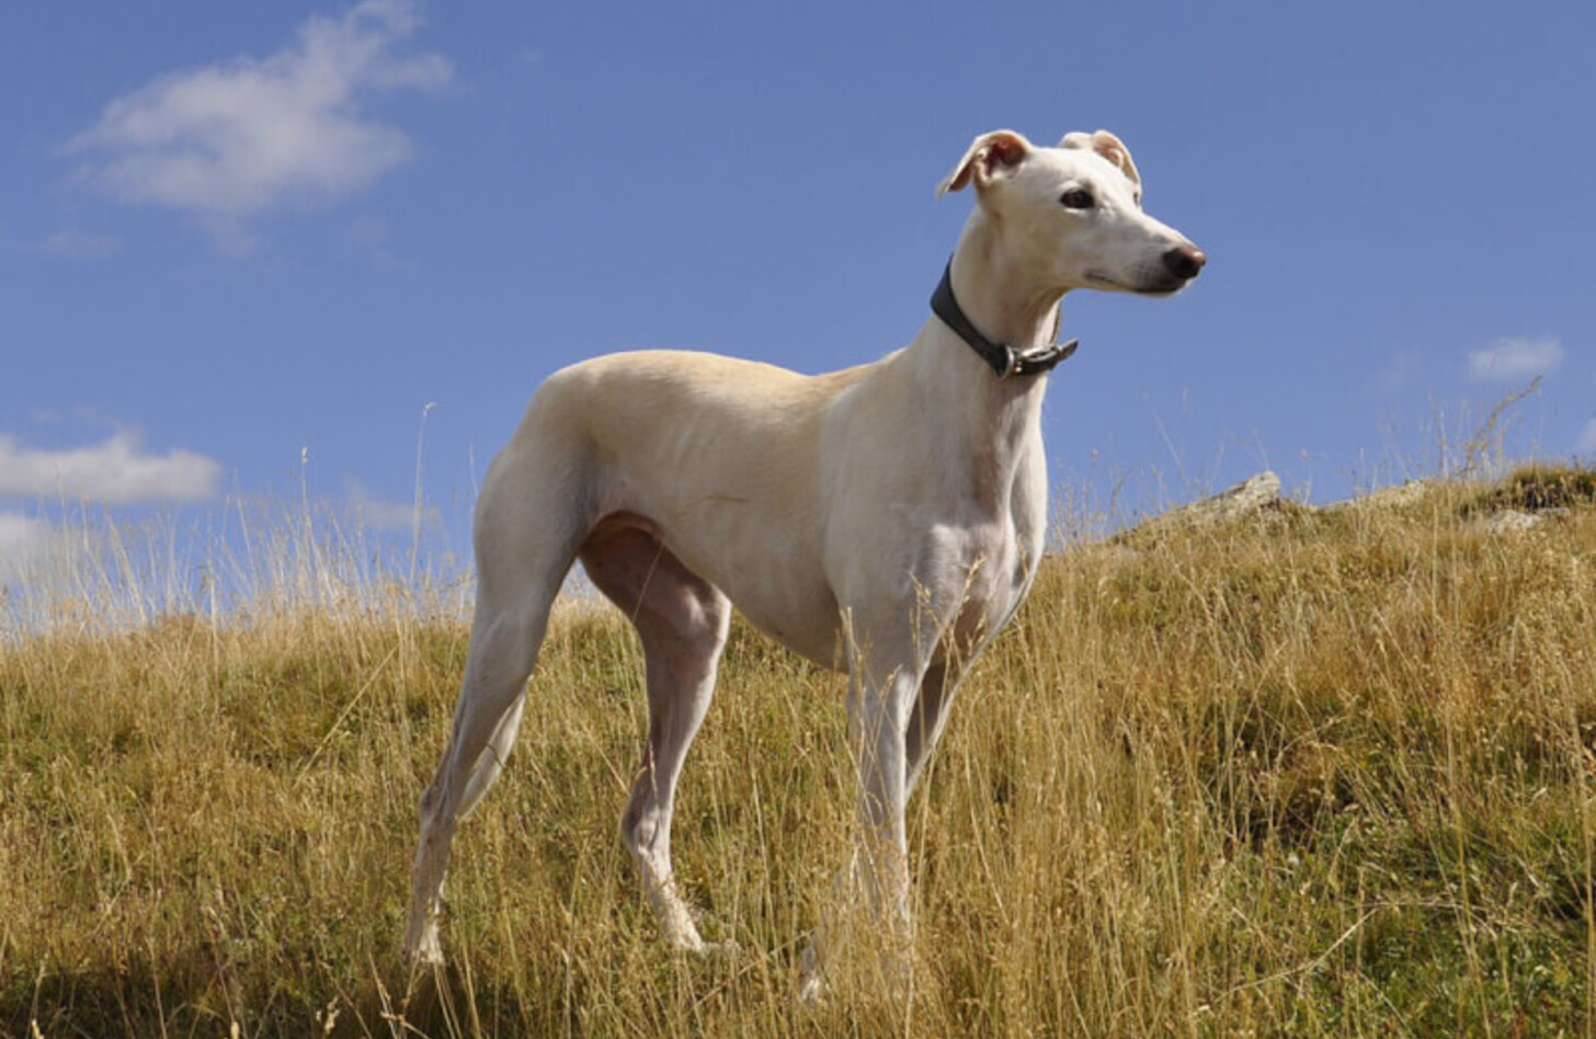
<path fill-rule="evenodd" d="M 421 838 L 412 873 L 405 951 L 440 962 L 439 897 L 455 827 L 498 779 L 516 741 L 527 678 L 547 632 L 549 608 L 576 555 L 586 517 L 571 508 L 522 514 L 525 487 L 560 495 L 560 474 L 516 471 L 501 456 L 477 509 L 477 606 L 453 731 L 437 774 L 421 796 Z"/>

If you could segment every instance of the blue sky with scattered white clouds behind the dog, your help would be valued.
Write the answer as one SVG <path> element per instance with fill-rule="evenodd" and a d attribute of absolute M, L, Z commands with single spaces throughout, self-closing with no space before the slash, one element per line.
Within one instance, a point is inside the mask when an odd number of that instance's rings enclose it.
<path fill-rule="evenodd" d="M 62 503 L 302 492 L 461 549 L 536 383 L 683 346 L 894 350 L 969 140 L 1108 128 L 1210 257 L 1071 294 L 1055 484 L 1314 500 L 1596 456 L 1590 5 L 0 8 L 0 571 Z M 433 405 L 431 409 L 428 405 Z M 302 485 L 303 479 L 303 485 Z"/>

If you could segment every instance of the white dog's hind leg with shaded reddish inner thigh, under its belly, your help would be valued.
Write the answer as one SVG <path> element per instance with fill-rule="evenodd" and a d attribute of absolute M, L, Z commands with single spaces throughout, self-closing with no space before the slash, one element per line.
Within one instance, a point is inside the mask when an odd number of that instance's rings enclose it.
<path fill-rule="evenodd" d="M 715 693 L 731 603 L 688 570 L 642 517 L 614 517 L 587 538 L 583 567 L 637 627 L 648 685 L 648 744 L 621 816 L 621 839 L 666 938 L 704 951 L 670 865 L 670 812 L 688 747 Z"/>

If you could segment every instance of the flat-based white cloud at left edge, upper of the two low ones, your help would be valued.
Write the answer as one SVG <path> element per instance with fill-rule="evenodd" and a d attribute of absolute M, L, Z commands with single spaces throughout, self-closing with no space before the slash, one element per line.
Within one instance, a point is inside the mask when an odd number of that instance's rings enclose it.
<path fill-rule="evenodd" d="M 104 444 L 30 450 L 0 436 L 0 495 L 128 504 L 198 501 L 215 495 L 222 466 L 193 452 L 152 455 L 121 431 Z"/>

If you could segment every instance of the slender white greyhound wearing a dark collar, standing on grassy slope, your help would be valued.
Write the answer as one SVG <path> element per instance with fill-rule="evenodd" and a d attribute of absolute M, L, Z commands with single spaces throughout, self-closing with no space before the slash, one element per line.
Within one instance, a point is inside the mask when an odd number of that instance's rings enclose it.
<path fill-rule="evenodd" d="M 1136 166 L 1106 131 L 1055 148 L 982 134 L 937 193 L 967 185 L 978 204 L 935 316 L 875 364 L 809 377 L 638 351 L 571 365 L 536 391 L 477 501 L 476 621 L 448 752 L 421 798 L 413 958 L 442 959 L 450 839 L 504 766 L 549 606 L 578 559 L 643 645 L 648 744 L 621 839 L 670 943 L 705 948 L 672 879 L 670 812 L 733 603 L 849 672 L 855 868 L 868 903 L 908 937 L 905 800 L 961 675 L 1042 557 L 1042 391 L 1074 346 L 1055 343 L 1058 300 L 1170 295 L 1205 262 L 1141 211 Z"/>

